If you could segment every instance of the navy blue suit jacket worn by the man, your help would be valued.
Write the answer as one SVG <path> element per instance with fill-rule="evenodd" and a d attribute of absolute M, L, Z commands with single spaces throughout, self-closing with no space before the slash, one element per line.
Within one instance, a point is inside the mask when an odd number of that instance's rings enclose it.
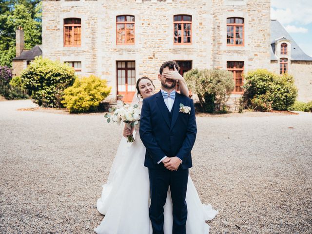
<path fill-rule="evenodd" d="M 180 103 L 191 107 L 190 114 L 179 112 Z M 140 137 L 146 147 L 144 166 L 166 169 L 157 162 L 164 156 L 177 156 L 182 160 L 179 169 L 188 169 L 192 167 L 191 150 L 197 133 L 194 102 L 176 93 L 171 122 L 168 113 L 161 92 L 144 98 L 140 118 Z"/>

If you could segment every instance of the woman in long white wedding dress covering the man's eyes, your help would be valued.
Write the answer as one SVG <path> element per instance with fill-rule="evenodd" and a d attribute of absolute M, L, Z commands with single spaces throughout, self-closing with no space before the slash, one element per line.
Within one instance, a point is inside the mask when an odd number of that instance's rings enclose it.
<path fill-rule="evenodd" d="M 178 72 L 163 73 L 168 79 L 178 80 L 181 94 L 188 96 L 184 78 Z M 137 80 L 137 99 L 148 98 L 155 94 L 155 86 L 150 78 Z M 142 105 L 140 101 L 137 101 Z M 152 234 L 149 218 L 150 188 L 148 168 L 144 167 L 146 148 L 139 136 L 139 125 L 135 125 L 135 141 L 127 143 L 133 129 L 124 127 L 123 136 L 117 150 L 108 181 L 104 184 L 97 209 L 105 215 L 100 225 L 94 229 L 98 234 Z M 188 217 L 187 234 L 208 234 L 209 225 L 205 220 L 211 220 L 218 214 L 211 205 L 201 203 L 192 179 L 188 178 L 186 194 Z M 164 234 L 172 234 L 172 201 L 170 189 L 164 206 Z"/>

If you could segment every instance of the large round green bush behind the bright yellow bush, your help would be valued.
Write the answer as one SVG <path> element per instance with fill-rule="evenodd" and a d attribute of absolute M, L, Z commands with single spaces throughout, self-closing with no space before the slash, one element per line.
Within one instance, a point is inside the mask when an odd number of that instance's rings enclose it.
<path fill-rule="evenodd" d="M 64 89 L 75 81 L 75 71 L 59 61 L 38 57 L 22 71 L 20 78 L 35 103 L 60 108 Z"/>

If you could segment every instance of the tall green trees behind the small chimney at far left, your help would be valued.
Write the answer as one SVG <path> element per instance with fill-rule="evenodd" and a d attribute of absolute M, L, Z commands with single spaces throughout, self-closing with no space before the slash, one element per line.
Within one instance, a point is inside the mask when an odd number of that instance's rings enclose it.
<path fill-rule="evenodd" d="M 22 27 L 25 49 L 41 44 L 41 0 L 0 2 L 0 65 L 12 66 L 15 57 L 15 30 Z"/>

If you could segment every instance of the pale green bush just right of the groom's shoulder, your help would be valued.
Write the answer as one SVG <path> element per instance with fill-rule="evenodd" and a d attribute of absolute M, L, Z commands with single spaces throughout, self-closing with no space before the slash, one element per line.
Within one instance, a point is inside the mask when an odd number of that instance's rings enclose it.
<path fill-rule="evenodd" d="M 189 88 L 198 96 L 204 112 L 226 112 L 225 103 L 234 89 L 233 73 L 225 70 L 192 69 L 184 74 Z"/>

